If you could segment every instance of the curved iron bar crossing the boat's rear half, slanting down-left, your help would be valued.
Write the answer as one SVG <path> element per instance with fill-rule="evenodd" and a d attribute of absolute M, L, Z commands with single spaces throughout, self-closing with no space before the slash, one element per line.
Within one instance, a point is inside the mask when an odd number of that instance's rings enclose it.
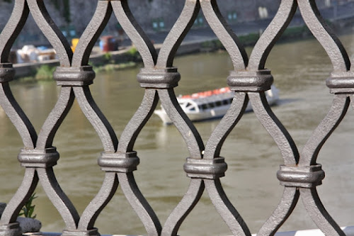
<path fill-rule="evenodd" d="M 207 140 L 204 153 L 205 159 L 219 157 L 220 150 L 227 136 L 235 125 L 239 123 L 241 117 L 244 116 L 247 103 L 249 103 L 249 97 L 246 93 L 235 93 L 234 101 L 232 102 L 229 111 L 227 111 L 219 125 L 217 125 L 217 128 L 215 128 L 212 135 L 210 135 L 209 140 Z"/>

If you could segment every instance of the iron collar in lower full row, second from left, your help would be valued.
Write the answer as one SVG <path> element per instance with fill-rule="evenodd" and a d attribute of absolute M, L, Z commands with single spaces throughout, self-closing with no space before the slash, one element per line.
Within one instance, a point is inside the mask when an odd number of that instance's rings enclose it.
<path fill-rule="evenodd" d="M 98 165 L 105 172 L 133 172 L 137 169 L 139 163 L 140 160 L 137 157 L 137 152 L 102 152 L 101 157 L 98 158 Z"/>

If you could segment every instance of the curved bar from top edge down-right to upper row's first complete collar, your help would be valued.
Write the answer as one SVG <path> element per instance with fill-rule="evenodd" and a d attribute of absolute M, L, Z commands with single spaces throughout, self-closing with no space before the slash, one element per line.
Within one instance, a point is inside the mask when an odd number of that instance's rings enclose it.
<path fill-rule="evenodd" d="M 70 67 L 72 62 L 72 48 L 67 39 L 59 30 L 57 25 L 50 18 L 43 0 L 27 0 L 30 13 L 35 19 L 38 27 L 50 41 L 59 57 L 60 64 L 64 67 Z"/>

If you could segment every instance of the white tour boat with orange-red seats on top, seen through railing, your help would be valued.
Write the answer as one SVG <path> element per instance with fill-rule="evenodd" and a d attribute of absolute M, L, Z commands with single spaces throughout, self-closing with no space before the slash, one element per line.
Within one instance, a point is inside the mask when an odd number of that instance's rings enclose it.
<path fill-rule="evenodd" d="M 268 104 L 272 106 L 279 100 L 279 90 L 272 85 L 271 89 L 265 91 L 265 97 Z M 178 96 L 177 98 L 181 108 L 192 121 L 222 118 L 227 113 L 233 99 L 234 91 L 231 91 L 229 87 Z M 246 111 L 252 111 L 251 103 L 248 104 Z M 162 106 L 154 113 L 161 118 L 164 124 L 172 123 Z"/>

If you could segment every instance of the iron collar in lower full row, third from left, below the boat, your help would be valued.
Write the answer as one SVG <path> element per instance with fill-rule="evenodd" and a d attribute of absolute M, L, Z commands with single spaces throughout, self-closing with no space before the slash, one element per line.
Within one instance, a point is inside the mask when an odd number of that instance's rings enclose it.
<path fill-rule="evenodd" d="M 225 176 L 227 164 L 224 161 L 224 157 L 216 157 L 214 159 L 187 158 L 183 169 L 190 178 L 218 179 Z"/>

